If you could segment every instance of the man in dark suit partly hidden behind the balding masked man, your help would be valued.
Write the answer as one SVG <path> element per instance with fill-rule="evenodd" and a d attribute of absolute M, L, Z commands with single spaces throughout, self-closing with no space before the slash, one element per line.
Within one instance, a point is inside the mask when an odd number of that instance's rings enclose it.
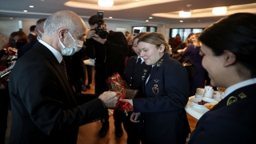
<path fill-rule="evenodd" d="M 23 54 L 25 54 L 28 50 L 30 50 L 33 47 L 35 42 L 38 42 L 38 40 L 42 38 L 42 33 L 44 32 L 43 24 L 45 23 L 45 21 L 46 18 L 41 18 L 38 20 L 38 22 L 36 23 L 36 31 L 38 33 L 38 37 L 34 38 L 33 41 L 30 41 L 30 43 L 27 43 L 26 45 L 18 49 L 18 58 L 21 58 Z"/>

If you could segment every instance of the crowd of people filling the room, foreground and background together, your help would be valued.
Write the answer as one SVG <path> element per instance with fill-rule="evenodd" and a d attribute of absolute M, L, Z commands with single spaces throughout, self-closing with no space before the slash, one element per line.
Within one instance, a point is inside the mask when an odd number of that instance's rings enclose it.
<path fill-rule="evenodd" d="M 185 42 L 179 34 L 166 41 L 158 32 L 131 37 L 129 32 L 108 31 L 97 15 L 89 18 L 87 30 L 82 18 L 69 10 L 38 19 L 28 36 L 15 31 L 0 50 L 0 72 L 9 65 L 9 47 L 18 51 L 10 75 L 0 79 L 0 140 L 5 139 L 8 110 L 10 144 L 75 144 L 79 126 L 96 121 L 102 122 L 98 136 L 105 137 L 108 109 L 119 101 L 132 106 L 128 116 L 114 111 L 114 134 L 122 137 L 123 124 L 127 144 L 254 142 L 255 19 L 255 14 L 231 14 L 202 33 L 189 34 Z M 98 33 L 99 26 L 106 37 Z M 94 94 L 82 94 L 91 83 L 85 83 L 86 58 L 95 59 Z M 193 77 L 183 62 L 194 64 Z M 138 90 L 133 99 L 120 100 L 117 92 L 109 91 L 106 78 L 115 73 L 126 89 Z M 184 108 L 196 89 L 206 86 L 207 77 L 211 86 L 226 91 L 191 131 Z"/>

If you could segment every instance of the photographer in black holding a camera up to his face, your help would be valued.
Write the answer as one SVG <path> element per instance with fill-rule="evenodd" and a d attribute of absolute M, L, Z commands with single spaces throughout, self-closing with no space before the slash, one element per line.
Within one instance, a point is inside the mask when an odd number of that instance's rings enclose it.
<path fill-rule="evenodd" d="M 90 31 L 86 36 L 86 52 L 89 58 L 95 59 L 95 94 L 109 90 L 106 85 L 106 78 L 118 72 L 121 76 L 125 70 L 125 57 L 128 54 L 128 44 L 122 32 L 106 31 L 106 24 L 103 19 L 103 12 L 93 15 L 88 20 Z M 106 36 L 107 37 L 102 37 Z M 117 114 L 115 114 L 118 117 Z M 109 115 L 106 110 L 106 118 L 102 120 L 100 137 L 105 137 L 109 130 Z M 122 136 L 122 125 L 118 118 L 114 118 L 115 134 Z"/>

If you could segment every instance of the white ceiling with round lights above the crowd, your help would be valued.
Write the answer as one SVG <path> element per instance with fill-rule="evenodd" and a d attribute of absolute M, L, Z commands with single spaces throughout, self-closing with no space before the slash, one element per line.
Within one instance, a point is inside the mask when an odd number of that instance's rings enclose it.
<path fill-rule="evenodd" d="M 187 6 L 188 4 L 190 6 Z M 226 14 L 256 14 L 255 0 L 114 0 L 112 7 L 100 7 L 98 0 L 0 0 L 0 18 L 39 19 L 46 18 L 58 10 L 72 10 L 82 18 L 90 18 L 91 15 L 97 14 L 97 11 L 104 11 L 106 22 L 131 25 L 178 23 L 180 20 L 214 22 L 223 17 L 211 13 L 212 8 L 217 6 L 226 6 Z M 23 10 L 28 12 L 25 13 Z M 190 18 L 179 18 L 179 10 L 190 10 L 192 15 Z"/>

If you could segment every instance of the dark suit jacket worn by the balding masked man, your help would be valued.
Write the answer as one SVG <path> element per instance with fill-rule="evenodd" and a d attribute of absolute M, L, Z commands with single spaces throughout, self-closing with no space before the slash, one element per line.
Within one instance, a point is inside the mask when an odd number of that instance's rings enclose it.
<path fill-rule="evenodd" d="M 103 117 L 96 98 L 78 106 L 62 66 L 36 42 L 10 74 L 10 144 L 76 144 L 78 127 Z"/>

